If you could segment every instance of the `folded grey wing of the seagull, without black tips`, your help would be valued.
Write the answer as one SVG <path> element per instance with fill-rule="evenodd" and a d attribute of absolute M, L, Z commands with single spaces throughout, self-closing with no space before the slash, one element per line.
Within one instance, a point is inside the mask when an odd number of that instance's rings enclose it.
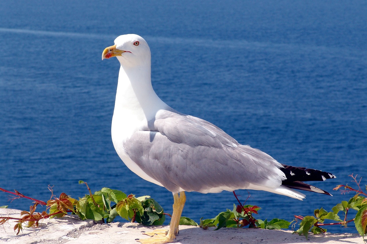
<path fill-rule="evenodd" d="M 272 157 L 240 145 L 217 126 L 164 111 L 124 143 L 130 158 L 169 191 L 219 192 L 250 184 L 277 187 L 284 174 Z"/>

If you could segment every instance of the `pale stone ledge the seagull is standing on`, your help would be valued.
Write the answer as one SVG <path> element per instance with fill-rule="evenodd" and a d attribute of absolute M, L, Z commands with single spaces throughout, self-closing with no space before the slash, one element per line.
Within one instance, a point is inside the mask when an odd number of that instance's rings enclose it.
<path fill-rule="evenodd" d="M 0 208 L 0 216 L 19 218 L 20 210 Z M 0 226 L 0 243 L 11 244 L 138 244 L 135 239 L 145 239 L 143 232 L 157 227 L 146 227 L 138 223 L 94 224 L 68 215 L 63 218 L 45 219 L 40 228 L 25 228 L 17 236 L 13 230 L 15 222 L 10 220 Z M 168 229 L 168 226 L 158 228 Z M 326 244 L 364 244 L 358 234 L 322 234 L 310 235 L 309 241 L 304 236 L 291 231 L 265 229 L 222 228 L 203 230 L 194 226 L 180 226 L 180 233 L 175 243 L 179 244 L 287 244 L 287 243 L 326 243 Z"/>

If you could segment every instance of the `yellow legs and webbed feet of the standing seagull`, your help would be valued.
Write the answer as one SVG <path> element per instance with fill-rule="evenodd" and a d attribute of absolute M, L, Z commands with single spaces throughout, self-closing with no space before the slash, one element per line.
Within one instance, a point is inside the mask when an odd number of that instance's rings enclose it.
<path fill-rule="evenodd" d="M 157 232 L 145 233 L 152 235 L 147 239 L 138 240 L 142 244 L 164 244 L 171 243 L 178 234 L 178 225 L 180 222 L 183 206 L 185 206 L 186 195 L 185 192 L 173 193 L 173 213 L 170 223 L 170 229 L 167 231 L 158 230 Z"/>

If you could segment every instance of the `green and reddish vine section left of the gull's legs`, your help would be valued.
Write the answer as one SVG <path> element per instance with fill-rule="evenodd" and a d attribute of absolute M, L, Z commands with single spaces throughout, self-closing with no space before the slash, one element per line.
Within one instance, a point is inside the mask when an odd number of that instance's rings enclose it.
<path fill-rule="evenodd" d="M 59 197 L 56 197 L 52 187 L 49 186 L 51 198 L 47 202 L 25 196 L 18 191 L 11 192 L 0 188 L 0 191 L 15 195 L 16 197 L 13 199 L 26 198 L 34 201 L 29 211 L 21 211 L 21 218 L 0 217 L 0 225 L 9 219 L 15 219 L 14 230 L 17 231 L 18 235 L 23 228 L 37 228 L 42 219 L 63 217 L 67 214 L 77 214 L 81 219 L 93 219 L 102 223 L 112 222 L 117 216 L 145 225 L 162 225 L 165 220 L 166 214 L 164 214 L 163 208 L 150 196 L 135 197 L 132 194 L 126 195 L 122 191 L 110 188 L 102 188 L 92 194 L 87 182 L 79 181 L 79 184 L 87 186 L 88 195 L 79 198 L 79 200 L 66 193 L 61 193 Z M 39 205 L 46 206 L 46 211 L 36 212 Z"/>

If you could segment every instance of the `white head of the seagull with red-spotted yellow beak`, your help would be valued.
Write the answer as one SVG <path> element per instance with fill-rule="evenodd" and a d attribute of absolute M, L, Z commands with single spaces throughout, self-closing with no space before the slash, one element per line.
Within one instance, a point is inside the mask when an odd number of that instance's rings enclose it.
<path fill-rule="evenodd" d="M 127 34 L 115 39 L 115 45 L 105 48 L 102 60 L 116 57 L 121 66 L 135 67 L 149 64 L 150 48 L 148 43 L 138 35 Z"/>

